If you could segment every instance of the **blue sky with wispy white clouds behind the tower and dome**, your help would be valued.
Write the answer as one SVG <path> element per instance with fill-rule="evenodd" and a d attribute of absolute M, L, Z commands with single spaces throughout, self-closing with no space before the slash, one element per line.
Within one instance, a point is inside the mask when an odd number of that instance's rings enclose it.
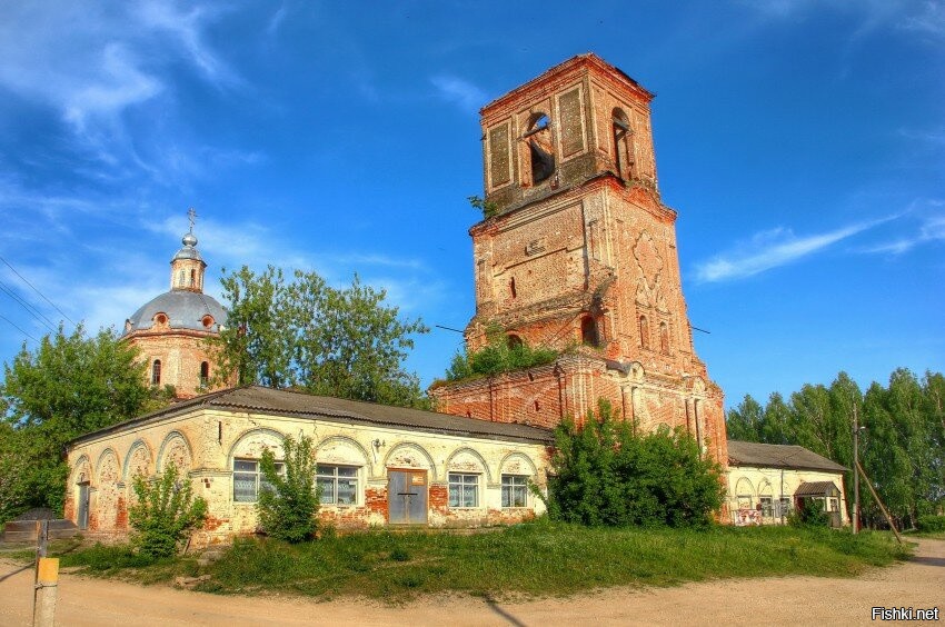
<path fill-rule="evenodd" d="M 222 268 L 357 272 L 474 312 L 478 110 L 595 52 L 648 90 L 699 357 L 726 405 L 945 370 L 945 1 L 0 3 L 0 360 Z"/>

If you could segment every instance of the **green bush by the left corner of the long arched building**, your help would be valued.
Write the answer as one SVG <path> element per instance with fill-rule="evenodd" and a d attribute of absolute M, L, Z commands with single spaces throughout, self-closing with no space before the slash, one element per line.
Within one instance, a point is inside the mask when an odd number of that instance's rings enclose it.
<path fill-rule="evenodd" d="M 180 480 L 173 464 L 153 481 L 136 476 L 133 488 L 138 500 L 128 509 L 128 521 L 135 528 L 131 544 L 147 558 L 175 555 L 183 536 L 207 517 L 207 501 L 193 498 L 190 481 Z"/>

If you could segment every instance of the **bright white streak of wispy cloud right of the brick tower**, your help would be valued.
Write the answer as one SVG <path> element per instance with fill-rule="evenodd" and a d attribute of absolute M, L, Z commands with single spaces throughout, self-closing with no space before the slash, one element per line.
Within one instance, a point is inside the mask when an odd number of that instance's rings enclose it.
<path fill-rule="evenodd" d="M 804 237 L 795 236 L 794 231 L 783 227 L 763 231 L 728 252 L 697 263 L 696 280 L 719 282 L 752 277 L 814 255 L 893 218 L 859 222 Z"/>

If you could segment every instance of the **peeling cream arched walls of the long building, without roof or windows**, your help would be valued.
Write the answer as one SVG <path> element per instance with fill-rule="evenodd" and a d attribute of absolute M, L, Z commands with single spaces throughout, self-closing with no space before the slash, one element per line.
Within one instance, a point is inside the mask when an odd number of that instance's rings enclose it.
<path fill-rule="evenodd" d="M 79 485 L 88 482 L 88 535 L 105 540 L 126 538 L 133 476 L 153 476 L 173 460 L 186 470 L 195 496 L 209 504 L 207 522 L 195 535 L 192 546 L 252 534 L 256 504 L 235 500 L 233 460 L 258 460 L 266 447 L 278 459 L 287 435 L 311 437 L 321 465 L 357 468 L 357 502 L 322 505 L 319 512 L 324 521 L 339 528 L 387 524 L 388 469 L 426 474 L 427 524 L 432 527 L 514 522 L 544 511 L 541 501 L 531 495 L 526 507 L 501 505 L 504 474 L 528 476 L 537 485 L 546 485 L 547 449 L 541 444 L 201 409 L 73 445 L 68 451 L 71 470 L 66 516 L 77 521 Z M 449 506 L 451 471 L 478 477 L 475 507 Z"/>

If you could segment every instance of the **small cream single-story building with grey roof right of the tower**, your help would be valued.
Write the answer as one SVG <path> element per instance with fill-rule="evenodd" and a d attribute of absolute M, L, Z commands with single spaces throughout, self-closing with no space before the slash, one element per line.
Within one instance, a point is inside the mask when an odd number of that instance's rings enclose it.
<path fill-rule="evenodd" d="M 728 440 L 728 510 L 735 525 L 783 525 L 810 501 L 832 524 L 849 524 L 843 477 L 849 469 L 794 445 Z"/>

